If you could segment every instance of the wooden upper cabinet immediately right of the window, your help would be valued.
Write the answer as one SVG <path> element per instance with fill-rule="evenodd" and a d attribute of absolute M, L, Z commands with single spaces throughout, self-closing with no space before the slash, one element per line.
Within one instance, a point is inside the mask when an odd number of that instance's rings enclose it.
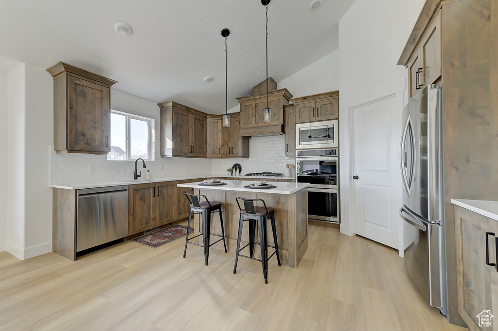
<path fill-rule="evenodd" d="M 174 101 L 158 105 L 161 157 L 206 158 L 207 114 Z"/>

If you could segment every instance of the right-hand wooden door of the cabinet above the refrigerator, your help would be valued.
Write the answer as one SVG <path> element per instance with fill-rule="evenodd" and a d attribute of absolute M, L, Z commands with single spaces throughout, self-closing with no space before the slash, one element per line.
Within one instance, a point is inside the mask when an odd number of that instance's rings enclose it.
<path fill-rule="evenodd" d="M 433 84 L 441 76 L 441 10 L 434 18 L 423 42 L 423 82 Z"/>

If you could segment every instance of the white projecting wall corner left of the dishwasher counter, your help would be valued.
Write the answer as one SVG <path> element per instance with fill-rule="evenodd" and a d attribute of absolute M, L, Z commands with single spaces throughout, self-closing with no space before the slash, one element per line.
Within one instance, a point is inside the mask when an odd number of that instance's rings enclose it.
<path fill-rule="evenodd" d="M 20 64 L 7 73 L 5 250 L 21 260 L 52 250 L 52 95 L 41 68 Z"/>

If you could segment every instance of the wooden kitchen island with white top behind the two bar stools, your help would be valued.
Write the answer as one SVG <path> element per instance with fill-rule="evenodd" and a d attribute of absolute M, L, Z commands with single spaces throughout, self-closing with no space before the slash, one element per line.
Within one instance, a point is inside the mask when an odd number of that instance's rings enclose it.
<path fill-rule="evenodd" d="M 249 185 L 247 180 L 224 180 L 226 185 L 203 186 L 202 181 L 178 184 L 179 187 L 194 188 L 195 194 L 204 194 L 209 201 L 217 201 L 222 204 L 223 223 L 227 249 L 235 253 L 237 250 L 237 235 L 239 231 L 239 207 L 235 198 L 260 198 L 267 207 L 272 207 L 275 212 L 275 224 L 277 229 L 277 240 L 280 261 L 283 266 L 297 268 L 308 249 L 308 210 L 307 210 L 307 183 L 276 182 L 269 181 L 268 184 L 275 188 L 256 189 L 245 188 Z M 262 204 L 258 204 L 261 205 Z M 219 215 L 212 214 L 211 233 L 221 235 Z M 202 226 L 200 217 L 196 216 L 194 224 L 194 235 L 201 233 Z M 192 226 L 192 225 L 191 225 Z M 244 227 L 241 246 L 249 242 L 249 231 Z M 193 236 L 193 235 L 192 235 Z M 202 239 L 196 238 L 200 241 Z M 258 239 L 256 239 L 258 241 Z M 273 246 L 271 228 L 268 227 L 268 245 Z M 223 249 L 223 242 L 213 245 L 211 248 Z M 255 250 L 254 255 L 260 258 Z M 270 260 L 271 261 L 271 260 Z"/>

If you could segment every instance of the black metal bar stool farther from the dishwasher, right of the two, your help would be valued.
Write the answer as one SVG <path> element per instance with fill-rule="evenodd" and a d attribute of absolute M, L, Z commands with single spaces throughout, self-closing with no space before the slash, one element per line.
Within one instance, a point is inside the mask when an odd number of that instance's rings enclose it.
<path fill-rule="evenodd" d="M 244 201 L 244 209 L 241 208 L 239 200 Z M 236 198 L 237 205 L 241 210 L 241 216 L 239 218 L 239 236 L 237 237 L 237 251 L 235 253 L 235 266 L 234 266 L 234 274 L 237 270 L 237 262 L 239 260 L 239 256 L 246 257 L 251 260 L 261 261 L 263 266 L 263 276 L 264 276 L 264 284 L 268 284 L 268 260 L 273 256 L 273 254 L 277 254 L 277 262 L 280 267 L 280 256 L 278 255 L 278 243 L 277 243 L 277 231 L 275 228 L 275 213 L 273 212 L 273 208 L 267 208 L 266 203 L 264 203 L 263 199 L 246 199 L 237 197 Z M 263 202 L 264 207 L 255 207 L 254 201 Z M 271 222 L 271 231 L 273 232 L 273 241 L 275 242 L 275 246 L 268 245 L 268 238 L 266 232 L 266 221 L 270 220 Z M 244 221 L 249 221 L 249 243 L 241 248 L 241 237 L 242 237 L 242 228 L 244 225 Z M 259 241 L 260 243 L 254 242 L 255 233 L 256 233 L 256 222 L 257 228 L 259 232 Z M 254 244 L 259 245 L 261 248 L 261 260 L 255 259 L 252 256 L 254 255 Z M 242 255 L 240 251 L 249 246 L 249 255 Z M 275 251 L 268 257 L 268 247 L 274 248 Z"/>

